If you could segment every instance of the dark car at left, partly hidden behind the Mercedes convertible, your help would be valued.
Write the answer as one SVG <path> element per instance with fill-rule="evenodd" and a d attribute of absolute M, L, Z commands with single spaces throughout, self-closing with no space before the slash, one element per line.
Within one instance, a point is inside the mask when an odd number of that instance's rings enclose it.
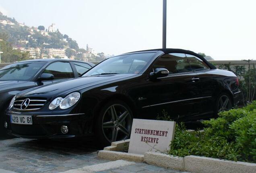
<path fill-rule="evenodd" d="M 17 93 L 68 78 L 76 78 L 93 67 L 90 62 L 36 59 L 15 62 L 0 69 L 0 134 L 4 133 L 4 111 Z"/>

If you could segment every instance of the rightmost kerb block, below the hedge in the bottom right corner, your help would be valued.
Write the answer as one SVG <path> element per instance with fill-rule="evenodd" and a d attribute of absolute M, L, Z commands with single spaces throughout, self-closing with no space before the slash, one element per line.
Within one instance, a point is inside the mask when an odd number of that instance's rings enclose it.
<path fill-rule="evenodd" d="M 194 173 L 256 173 L 256 164 L 211 157 L 184 157 L 186 171 Z"/>

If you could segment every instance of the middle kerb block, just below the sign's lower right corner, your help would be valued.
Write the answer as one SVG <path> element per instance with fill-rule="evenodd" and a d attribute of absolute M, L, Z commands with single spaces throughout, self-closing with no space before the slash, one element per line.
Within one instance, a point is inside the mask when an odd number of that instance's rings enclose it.
<path fill-rule="evenodd" d="M 146 152 L 144 154 L 144 162 L 164 168 L 185 170 L 183 157 L 173 157 L 162 153 Z"/>

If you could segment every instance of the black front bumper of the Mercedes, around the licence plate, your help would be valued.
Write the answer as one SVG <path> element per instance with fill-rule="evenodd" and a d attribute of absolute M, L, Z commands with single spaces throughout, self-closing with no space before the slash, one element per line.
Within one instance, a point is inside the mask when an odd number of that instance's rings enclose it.
<path fill-rule="evenodd" d="M 11 123 L 11 115 L 21 115 L 20 113 L 7 112 L 6 122 L 9 134 L 28 139 L 59 139 L 91 136 L 92 122 L 84 113 L 65 114 L 65 115 L 30 115 L 33 125 L 21 125 Z M 68 133 L 61 132 L 62 126 L 68 127 Z"/>

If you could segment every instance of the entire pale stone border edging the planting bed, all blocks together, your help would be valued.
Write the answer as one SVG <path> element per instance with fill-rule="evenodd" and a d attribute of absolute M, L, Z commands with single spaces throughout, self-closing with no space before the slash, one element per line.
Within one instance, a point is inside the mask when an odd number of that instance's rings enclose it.
<path fill-rule="evenodd" d="M 113 142 L 98 152 L 98 157 L 108 160 L 145 162 L 158 167 L 189 171 L 193 173 L 256 173 L 256 164 L 240 161 L 227 161 L 211 157 L 174 157 L 165 153 L 146 152 L 144 155 L 120 152 L 130 140 Z"/>

